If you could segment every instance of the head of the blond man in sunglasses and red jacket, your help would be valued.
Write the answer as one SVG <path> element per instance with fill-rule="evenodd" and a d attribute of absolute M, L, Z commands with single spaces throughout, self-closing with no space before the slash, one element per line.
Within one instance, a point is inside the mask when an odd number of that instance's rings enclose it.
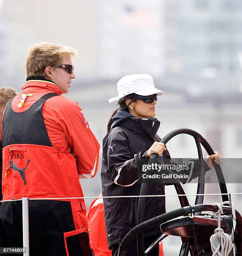
<path fill-rule="evenodd" d="M 76 55 L 76 49 L 60 45 L 41 42 L 33 45 L 28 52 L 26 60 L 26 74 L 30 76 L 40 76 L 50 79 L 60 88 L 62 93 L 67 93 L 71 84 L 71 79 L 76 78 L 70 73 L 68 66 L 72 65 L 71 57 Z"/>

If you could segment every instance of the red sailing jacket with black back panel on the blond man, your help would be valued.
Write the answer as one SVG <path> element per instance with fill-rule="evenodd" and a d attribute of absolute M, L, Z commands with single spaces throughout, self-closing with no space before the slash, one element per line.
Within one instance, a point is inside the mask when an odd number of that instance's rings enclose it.
<path fill-rule="evenodd" d="M 30 80 L 22 90 L 11 105 L 7 105 L 3 117 L 3 144 L 5 138 L 15 141 L 5 143 L 3 148 L 3 200 L 82 197 L 78 178 L 96 175 L 100 147 L 85 114 L 76 102 L 61 96 L 53 82 Z M 54 97 L 42 99 L 50 93 L 55 94 Z M 23 94 L 27 97 L 19 107 Z M 8 117 L 7 111 L 15 118 Z M 45 129 L 38 131 L 39 112 Z M 34 136 L 32 129 L 38 131 Z M 44 132 L 47 142 L 41 144 Z M 76 216 L 73 215 L 76 228 L 87 226 L 84 200 L 71 200 L 71 207 L 76 212 Z"/>

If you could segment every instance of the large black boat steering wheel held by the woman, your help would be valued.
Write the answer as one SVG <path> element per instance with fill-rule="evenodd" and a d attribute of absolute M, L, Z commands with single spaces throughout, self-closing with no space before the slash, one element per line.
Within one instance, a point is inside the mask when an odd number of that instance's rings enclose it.
<path fill-rule="evenodd" d="M 209 143 L 205 140 L 205 138 L 202 137 L 199 133 L 196 131 L 193 131 L 191 129 L 187 128 L 182 128 L 182 129 L 176 129 L 174 131 L 171 131 L 168 133 L 164 138 L 161 139 L 161 143 L 166 144 L 171 138 L 173 138 L 176 135 L 179 134 L 188 134 L 190 136 L 194 137 L 196 146 L 197 146 L 197 152 L 198 152 L 198 158 L 200 161 L 200 173 L 199 173 L 199 178 L 198 178 L 198 185 L 197 185 L 197 196 L 195 200 L 195 205 L 193 206 L 193 209 L 195 214 L 197 215 L 199 212 L 205 209 L 209 210 L 212 209 L 212 211 L 216 211 L 217 207 L 214 205 L 203 205 L 204 207 L 201 207 L 199 205 L 203 204 L 204 200 L 204 164 L 203 164 L 203 155 L 202 155 L 202 146 L 205 148 L 207 151 L 207 154 L 212 155 L 214 154 L 214 151 L 212 147 L 209 145 Z M 158 158 L 158 154 L 152 154 L 149 163 L 151 164 L 154 159 Z M 219 187 L 220 191 L 222 194 L 227 194 L 227 187 L 224 181 L 224 176 L 222 173 L 222 169 L 220 165 L 216 164 L 214 162 L 214 159 L 212 159 L 213 165 L 215 172 L 217 174 L 217 178 L 219 181 Z M 153 170 L 149 170 L 146 172 L 147 175 L 152 174 Z M 142 183 L 141 185 L 141 190 L 140 190 L 140 196 L 147 195 L 147 189 L 148 189 L 149 184 L 148 183 Z M 185 195 L 184 189 L 181 187 L 181 184 L 178 182 L 174 184 L 176 192 L 178 195 Z M 228 195 L 222 195 L 222 201 L 228 201 Z M 122 241 L 120 247 L 119 247 L 119 256 L 124 256 L 126 253 L 126 249 L 131 243 L 131 241 L 137 236 L 137 247 L 138 247 L 138 255 L 139 256 L 145 256 L 145 249 L 144 249 L 144 230 L 149 229 L 151 227 L 154 227 L 156 225 L 160 225 L 161 223 L 164 223 L 168 220 L 172 220 L 173 218 L 182 216 L 182 215 L 187 215 L 191 209 L 190 205 L 188 202 L 188 199 L 186 196 L 179 196 L 179 201 L 181 204 L 181 208 L 167 212 L 163 215 L 157 216 L 151 220 L 147 220 L 144 222 L 144 211 L 145 211 L 145 202 L 146 202 L 146 197 L 139 197 L 139 205 L 138 205 L 138 215 L 137 215 L 137 226 L 134 227 L 124 238 Z M 167 235 L 163 235 L 163 238 L 166 237 Z M 184 243 L 182 244 L 182 247 L 184 247 Z M 181 247 L 181 248 L 182 248 Z M 184 249 L 184 251 L 187 249 Z"/>

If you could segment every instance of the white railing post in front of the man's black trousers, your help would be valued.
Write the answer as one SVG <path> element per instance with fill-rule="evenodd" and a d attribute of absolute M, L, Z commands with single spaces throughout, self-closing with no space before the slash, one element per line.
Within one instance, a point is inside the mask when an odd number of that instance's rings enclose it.
<path fill-rule="evenodd" d="M 25 256 L 29 256 L 29 222 L 28 222 L 28 197 L 22 198 L 23 211 L 23 247 L 26 248 Z"/>

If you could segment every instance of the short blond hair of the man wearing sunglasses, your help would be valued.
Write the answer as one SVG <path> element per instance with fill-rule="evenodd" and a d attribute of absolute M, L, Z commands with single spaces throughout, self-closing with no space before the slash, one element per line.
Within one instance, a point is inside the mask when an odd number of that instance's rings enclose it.
<path fill-rule="evenodd" d="M 57 66 L 63 57 L 75 56 L 76 49 L 61 45 L 40 42 L 30 47 L 26 60 L 26 74 L 30 76 L 45 77 L 45 67 Z M 63 63 L 65 64 L 65 63 Z"/>

